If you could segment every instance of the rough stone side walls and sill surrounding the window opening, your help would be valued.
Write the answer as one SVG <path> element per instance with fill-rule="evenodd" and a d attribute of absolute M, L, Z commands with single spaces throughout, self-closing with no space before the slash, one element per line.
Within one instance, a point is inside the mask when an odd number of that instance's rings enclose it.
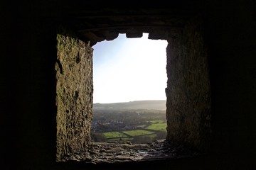
<path fill-rule="evenodd" d="M 166 140 L 141 145 L 93 143 L 93 44 L 58 34 L 57 162 L 140 162 L 195 157 L 207 151 L 211 132 L 210 85 L 207 50 L 198 23 L 189 23 L 178 35 L 161 31 L 149 35 L 168 41 Z"/>

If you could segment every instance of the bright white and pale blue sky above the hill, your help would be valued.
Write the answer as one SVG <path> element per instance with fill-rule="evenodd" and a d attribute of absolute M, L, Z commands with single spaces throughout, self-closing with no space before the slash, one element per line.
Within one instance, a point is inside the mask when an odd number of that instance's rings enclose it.
<path fill-rule="evenodd" d="M 93 51 L 93 103 L 166 100 L 166 40 L 126 38 L 97 42 Z"/>

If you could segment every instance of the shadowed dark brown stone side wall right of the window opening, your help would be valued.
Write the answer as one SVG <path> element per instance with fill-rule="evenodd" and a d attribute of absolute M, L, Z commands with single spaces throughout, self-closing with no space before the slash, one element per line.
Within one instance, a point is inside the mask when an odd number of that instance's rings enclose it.
<path fill-rule="evenodd" d="M 210 137 L 210 82 L 198 18 L 168 40 L 166 118 L 171 142 L 206 149 Z"/>

